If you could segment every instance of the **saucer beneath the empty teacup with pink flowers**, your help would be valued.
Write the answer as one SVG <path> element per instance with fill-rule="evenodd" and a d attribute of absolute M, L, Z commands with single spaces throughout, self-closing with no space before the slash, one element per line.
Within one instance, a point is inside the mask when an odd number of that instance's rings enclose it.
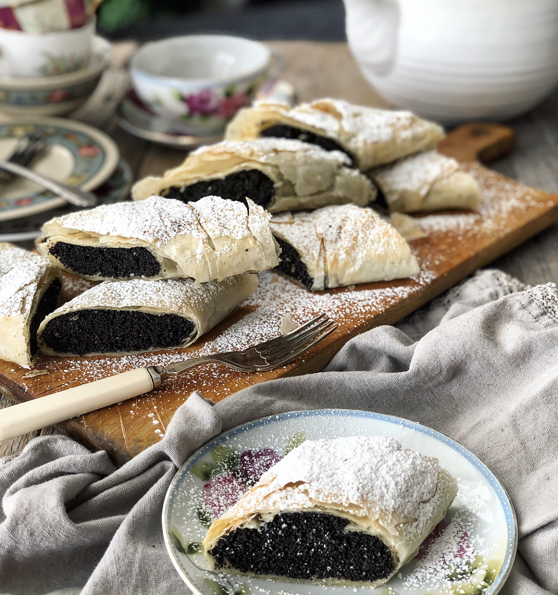
<path fill-rule="evenodd" d="M 265 84 L 256 95 L 259 101 L 281 101 L 289 105 L 295 102 L 294 87 L 287 81 L 274 80 Z M 164 118 L 155 114 L 130 90 L 118 109 L 119 126 L 139 137 L 160 145 L 174 148 L 194 149 L 201 145 L 212 145 L 222 140 L 222 133 L 208 136 L 192 134 L 187 122 Z"/>

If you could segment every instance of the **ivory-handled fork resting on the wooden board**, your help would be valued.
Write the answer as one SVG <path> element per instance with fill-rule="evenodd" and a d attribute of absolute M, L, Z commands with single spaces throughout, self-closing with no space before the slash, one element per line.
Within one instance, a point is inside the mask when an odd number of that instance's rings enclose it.
<path fill-rule="evenodd" d="M 65 419 L 149 393 L 161 386 L 169 375 L 181 374 L 208 362 L 217 362 L 242 372 L 261 372 L 279 368 L 325 339 L 336 328 L 337 325 L 330 318 L 321 314 L 290 333 L 244 351 L 215 353 L 167 366 L 136 368 L 73 389 L 61 390 L 39 399 L 12 405 L 0 410 L 0 440 L 40 430 L 47 425 L 57 424 Z"/>

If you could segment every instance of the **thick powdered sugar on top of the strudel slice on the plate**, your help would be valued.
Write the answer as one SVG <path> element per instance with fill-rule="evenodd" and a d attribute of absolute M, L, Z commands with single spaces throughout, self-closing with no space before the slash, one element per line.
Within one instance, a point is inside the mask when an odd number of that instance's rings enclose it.
<path fill-rule="evenodd" d="M 275 491 L 302 482 L 299 489 L 318 502 L 356 505 L 362 509 L 352 509 L 358 516 L 412 522 L 421 504 L 434 497 L 440 471 L 435 459 L 402 449 L 397 440 L 354 436 L 307 440 L 262 475 L 260 483 Z"/>

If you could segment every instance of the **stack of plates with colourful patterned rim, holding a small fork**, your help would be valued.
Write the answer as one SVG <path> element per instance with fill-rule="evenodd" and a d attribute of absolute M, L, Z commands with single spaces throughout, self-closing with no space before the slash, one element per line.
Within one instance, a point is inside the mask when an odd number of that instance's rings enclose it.
<path fill-rule="evenodd" d="M 131 171 L 114 141 L 93 127 L 62 118 L 18 118 L 0 123 L 0 159 L 9 159 L 21 137 L 37 134 L 49 146 L 31 166 L 40 174 L 94 192 L 99 204 L 125 199 Z M 0 241 L 24 242 L 40 235 L 52 217 L 79 210 L 28 180 L 0 183 Z"/>

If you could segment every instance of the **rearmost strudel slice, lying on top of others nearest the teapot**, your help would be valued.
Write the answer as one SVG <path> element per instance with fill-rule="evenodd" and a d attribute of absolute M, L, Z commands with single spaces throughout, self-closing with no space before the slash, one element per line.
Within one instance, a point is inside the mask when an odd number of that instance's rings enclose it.
<path fill-rule="evenodd" d="M 286 137 L 342 151 L 361 171 L 383 165 L 443 139 L 438 124 L 409 111 L 353 105 L 340 99 L 318 99 L 290 108 L 286 104 L 256 102 L 240 109 L 227 126 L 225 139 L 252 140 Z"/>

